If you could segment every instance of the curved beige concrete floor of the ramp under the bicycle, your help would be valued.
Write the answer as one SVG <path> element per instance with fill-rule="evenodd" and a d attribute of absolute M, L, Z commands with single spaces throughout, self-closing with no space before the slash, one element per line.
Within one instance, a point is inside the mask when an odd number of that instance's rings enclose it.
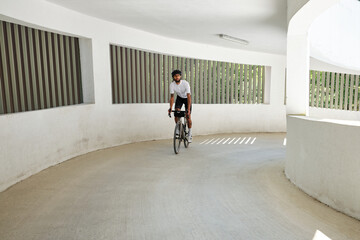
<path fill-rule="evenodd" d="M 0 193 L 0 239 L 311 240 L 317 230 L 360 239 L 360 221 L 286 179 L 284 137 L 202 136 L 179 155 L 163 140 L 77 157 Z"/>

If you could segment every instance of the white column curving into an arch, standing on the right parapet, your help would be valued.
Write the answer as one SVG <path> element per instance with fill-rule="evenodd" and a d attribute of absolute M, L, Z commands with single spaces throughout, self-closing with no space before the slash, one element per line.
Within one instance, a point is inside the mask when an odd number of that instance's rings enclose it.
<path fill-rule="evenodd" d="M 318 16 L 340 1 L 308 1 L 289 22 L 286 60 L 287 114 L 309 115 L 310 44 L 308 32 Z"/>

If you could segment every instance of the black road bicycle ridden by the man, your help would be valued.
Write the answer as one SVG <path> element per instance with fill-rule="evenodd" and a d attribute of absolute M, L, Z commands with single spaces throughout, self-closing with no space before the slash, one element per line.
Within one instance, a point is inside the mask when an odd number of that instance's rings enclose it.
<path fill-rule="evenodd" d="M 175 125 L 174 130 L 174 152 L 176 154 L 179 153 L 181 142 L 184 142 L 185 148 L 189 146 L 189 140 L 188 140 L 188 133 L 189 129 L 187 126 L 187 120 L 186 120 L 186 112 L 185 111 L 174 111 L 171 112 L 174 113 L 174 117 L 178 118 L 178 121 Z M 171 115 L 169 113 L 169 117 L 171 118 Z"/>

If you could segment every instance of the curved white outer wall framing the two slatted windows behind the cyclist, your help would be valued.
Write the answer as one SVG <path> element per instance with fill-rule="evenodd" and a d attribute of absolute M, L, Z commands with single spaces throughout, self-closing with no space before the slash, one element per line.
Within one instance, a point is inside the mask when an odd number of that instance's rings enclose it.
<path fill-rule="evenodd" d="M 111 104 L 110 43 L 170 55 L 269 66 L 269 104 L 194 105 L 193 132 L 199 135 L 286 129 L 285 56 L 169 39 L 44 0 L 2 0 L 0 19 L 86 38 L 85 47 L 89 51 L 82 59 L 89 61 L 83 66 L 87 69 L 83 81 L 88 83 L 84 94 L 86 102 L 95 101 L 95 104 L 0 116 L 0 191 L 80 154 L 172 136 L 174 123 L 167 117 L 167 104 Z"/>

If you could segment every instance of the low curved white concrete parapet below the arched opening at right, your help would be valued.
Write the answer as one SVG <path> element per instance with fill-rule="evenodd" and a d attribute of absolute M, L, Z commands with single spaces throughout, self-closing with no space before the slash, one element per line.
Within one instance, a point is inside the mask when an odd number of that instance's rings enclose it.
<path fill-rule="evenodd" d="M 360 123 L 287 118 L 286 176 L 319 201 L 360 219 Z"/>

